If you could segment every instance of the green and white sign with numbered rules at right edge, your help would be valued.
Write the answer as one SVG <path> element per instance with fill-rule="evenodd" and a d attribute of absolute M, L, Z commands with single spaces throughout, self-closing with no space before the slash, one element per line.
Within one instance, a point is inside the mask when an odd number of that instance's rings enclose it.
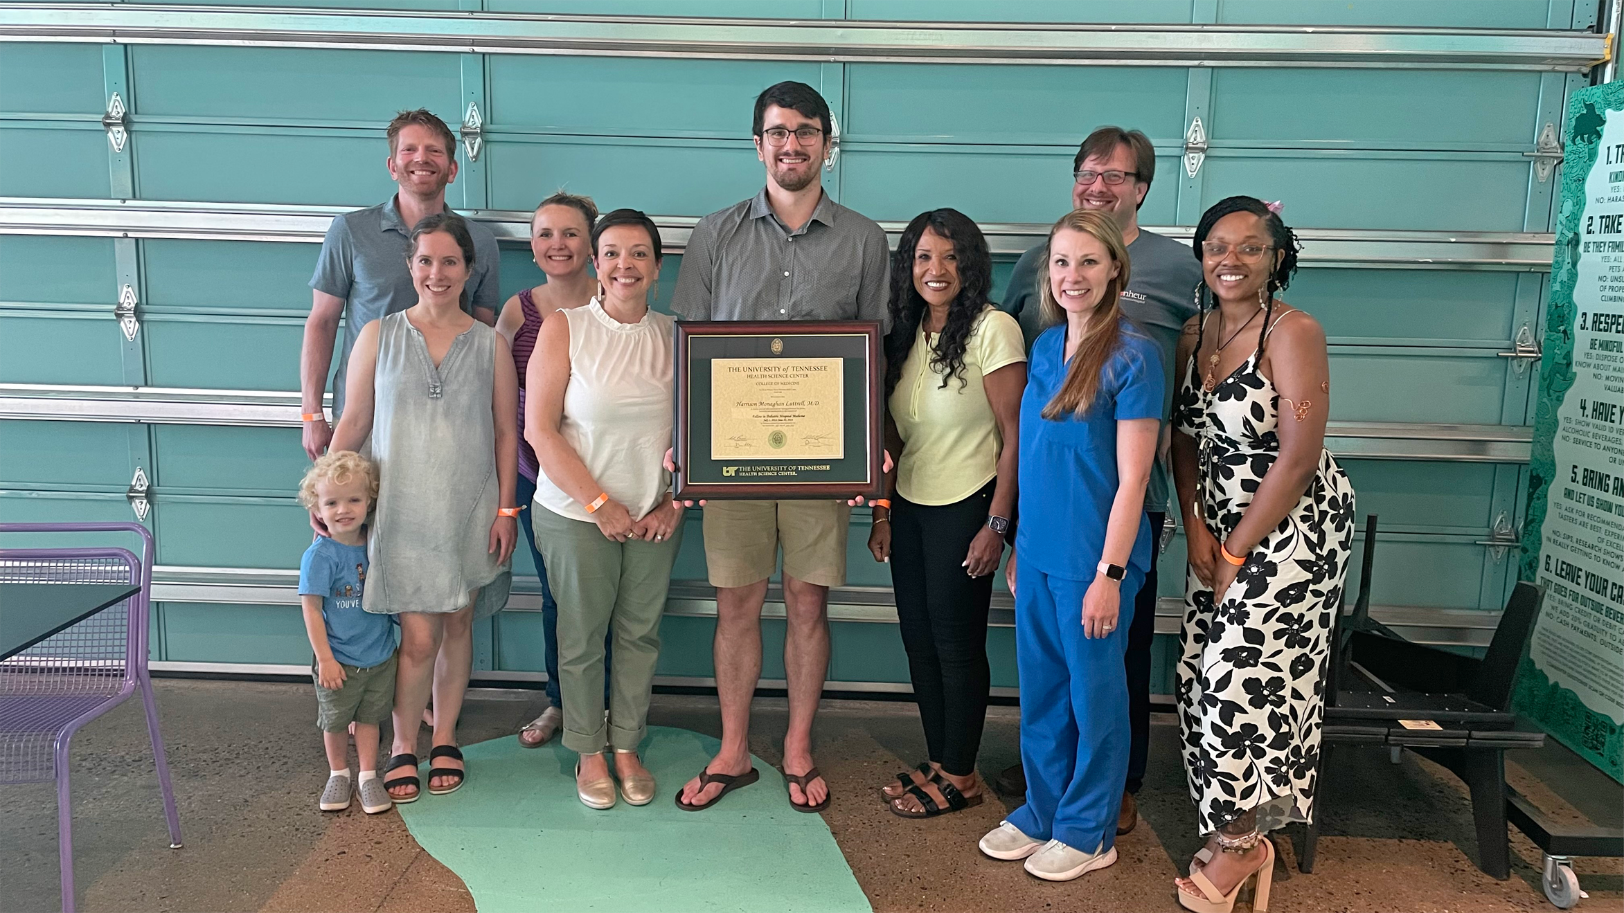
<path fill-rule="evenodd" d="M 1544 608 L 1517 707 L 1624 781 L 1624 83 L 1567 104 L 1520 577 Z"/>

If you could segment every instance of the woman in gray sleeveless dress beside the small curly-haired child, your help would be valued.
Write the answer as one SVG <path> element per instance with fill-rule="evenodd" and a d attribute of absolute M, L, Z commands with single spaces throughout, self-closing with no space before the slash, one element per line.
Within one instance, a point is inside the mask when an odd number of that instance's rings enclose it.
<path fill-rule="evenodd" d="M 378 463 L 362 608 L 401 622 L 395 749 L 383 770 L 396 803 L 419 796 L 417 729 L 430 679 L 429 791 L 463 785 L 456 716 L 473 622 L 507 604 L 518 541 L 518 382 L 507 341 L 461 309 L 474 262 L 468 226 L 455 214 L 429 216 L 412 229 L 409 250 L 417 304 L 361 330 L 349 405 L 331 444 L 357 450 L 370 435 Z"/>

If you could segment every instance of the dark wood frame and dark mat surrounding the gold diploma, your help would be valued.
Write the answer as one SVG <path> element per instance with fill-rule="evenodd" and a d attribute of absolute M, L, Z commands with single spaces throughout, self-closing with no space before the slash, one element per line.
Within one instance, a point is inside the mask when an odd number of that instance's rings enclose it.
<path fill-rule="evenodd" d="M 861 351 L 853 353 L 861 338 Z M 726 349 L 726 357 L 828 357 L 838 351 L 843 359 L 843 434 L 844 458 L 838 460 L 838 468 L 809 466 L 809 458 L 784 460 L 716 460 L 710 450 L 710 409 L 708 401 L 690 400 L 692 388 L 698 385 L 708 400 L 710 370 L 695 372 L 693 367 L 708 366 L 713 357 L 708 354 Z M 780 351 L 771 351 L 778 348 Z M 851 499 L 880 497 L 885 486 L 882 461 L 885 455 L 883 413 L 880 392 L 883 377 L 880 362 L 883 348 L 880 343 L 880 323 L 877 320 L 679 320 L 676 328 L 676 495 L 677 499 L 713 499 L 713 500 L 788 500 L 788 499 Z M 851 364 L 857 361 L 861 364 Z M 698 377 L 703 375 L 703 377 Z M 853 380 L 861 380 L 861 388 L 853 390 Z M 861 405 L 861 416 L 853 416 L 853 408 Z M 705 427 L 693 427 L 695 416 Z M 861 435 L 854 434 L 861 429 Z M 702 437 L 695 445 L 693 432 Z M 861 437 L 853 440 L 853 437 Z M 783 473 L 806 476 L 799 481 L 721 481 L 718 478 L 723 465 L 749 465 L 750 468 L 778 466 Z M 781 466 L 780 466 L 781 465 Z M 711 469 L 718 471 L 711 471 Z M 807 471 L 810 469 L 810 471 Z"/>

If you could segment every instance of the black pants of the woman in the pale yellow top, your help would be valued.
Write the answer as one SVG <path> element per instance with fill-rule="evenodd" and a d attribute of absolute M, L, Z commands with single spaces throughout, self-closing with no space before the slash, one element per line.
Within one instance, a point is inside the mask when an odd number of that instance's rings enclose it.
<path fill-rule="evenodd" d="M 992 487 L 926 507 L 893 497 L 892 586 L 908 673 L 931 760 L 953 777 L 976 770 L 987 718 L 987 606 L 997 573 L 970 577 L 965 556 L 986 526 Z"/>

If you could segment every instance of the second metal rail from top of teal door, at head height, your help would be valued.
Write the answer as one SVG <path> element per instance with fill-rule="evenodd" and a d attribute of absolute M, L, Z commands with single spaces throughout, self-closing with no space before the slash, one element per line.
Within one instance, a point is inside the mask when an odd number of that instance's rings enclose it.
<path fill-rule="evenodd" d="M 260 203 L 175 203 L 161 200 L 75 200 L 0 197 L 0 234 L 154 237 L 193 240 L 279 240 L 320 244 L 333 216 L 352 206 Z M 528 211 L 464 213 L 499 240 L 529 240 Z M 682 253 L 697 216 L 654 216 L 666 253 Z M 905 223 L 880 223 L 892 244 Z M 1192 226 L 1145 226 L 1189 240 Z M 994 255 L 1018 257 L 1049 236 L 1047 224 L 986 223 Z M 1447 232 L 1302 229 L 1302 263 L 1312 266 L 1549 271 L 1554 237 L 1540 232 Z"/>

